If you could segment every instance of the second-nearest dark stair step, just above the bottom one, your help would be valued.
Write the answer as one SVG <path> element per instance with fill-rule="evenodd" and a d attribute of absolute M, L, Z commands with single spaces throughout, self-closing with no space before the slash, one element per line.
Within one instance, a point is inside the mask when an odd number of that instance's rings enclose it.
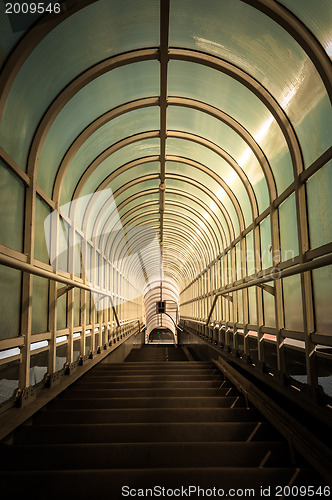
<path fill-rule="evenodd" d="M 286 467 L 287 445 L 258 443 L 113 443 L 16 445 L 0 448 L 0 469 L 121 469 L 146 467 Z M 45 457 L 47 457 L 45 459 Z"/>

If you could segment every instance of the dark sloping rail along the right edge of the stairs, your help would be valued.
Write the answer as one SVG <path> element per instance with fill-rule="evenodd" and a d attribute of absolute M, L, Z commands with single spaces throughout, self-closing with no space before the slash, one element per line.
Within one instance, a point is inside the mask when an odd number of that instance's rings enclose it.
<path fill-rule="evenodd" d="M 332 484 L 331 450 L 221 357 L 218 361 L 212 361 L 238 391 L 243 393 L 255 408 L 276 427 L 287 439 L 289 445 L 293 446 L 323 476 L 325 481 Z"/>

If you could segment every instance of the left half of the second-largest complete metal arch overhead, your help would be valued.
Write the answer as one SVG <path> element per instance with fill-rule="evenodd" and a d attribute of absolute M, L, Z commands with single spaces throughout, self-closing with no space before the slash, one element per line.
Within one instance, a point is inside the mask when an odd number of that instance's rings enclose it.
<path fill-rule="evenodd" d="M 60 194 L 62 189 L 62 184 L 66 175 L 66 172 L 69 168 L 70 162 L 84 144 L 84 142 L 89 139 L 97 130 L 99 130 L 103 125 L 110 122 L 114 118 L 121 116 L 125 113 L 130 113 L 131 111 L 135 111 L 137 109 L 143 109 L 150 106 L 159 106 L 159 97 L 145 97 L 142 99 L 136 99 L 134 101 L 127 102 L 125 104 L 121 104 L 116 108 L 113 108 L 109 111 L 106 111 L 103 115 L 96 118 L 93 122 L 91 122 L 82 132 L 76 137 L 76 139 L 69 146 L 66 151 L 64 157 L 62 158 L 59 168 L 57 170 L 52 199 L 55 202 L 60 202 Z"/>

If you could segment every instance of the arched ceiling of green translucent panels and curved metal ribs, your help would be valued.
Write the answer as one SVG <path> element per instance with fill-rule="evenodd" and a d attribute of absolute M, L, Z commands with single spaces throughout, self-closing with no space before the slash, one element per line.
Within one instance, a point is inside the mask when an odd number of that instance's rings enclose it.
<path fill-rule="evenodd" d="M 25 32 L 2 13 L 1 145 L 102 253 L 129 238 L 180 290 L 330 146 L 331 4 L 61 5 Z"/>

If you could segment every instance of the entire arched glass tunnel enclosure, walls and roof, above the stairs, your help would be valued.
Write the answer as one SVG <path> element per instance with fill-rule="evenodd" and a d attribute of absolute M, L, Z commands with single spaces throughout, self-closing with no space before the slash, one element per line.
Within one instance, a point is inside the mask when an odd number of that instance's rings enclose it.
<path fill-rule="evenodd" d="M 0 3 L 2 405 L 158 330 L 331 408 L 331 2 L 59 9 Z"/>

